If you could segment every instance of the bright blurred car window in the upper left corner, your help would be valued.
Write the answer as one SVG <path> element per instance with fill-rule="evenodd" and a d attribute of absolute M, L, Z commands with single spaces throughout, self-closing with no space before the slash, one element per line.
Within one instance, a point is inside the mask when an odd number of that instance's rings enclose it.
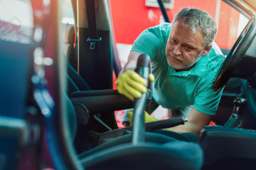
<path fill-rule="evenodd" d="M 0 39 L 23 44 L 31 43 L 33 11 L 29 0 L 1 1 Z"/>

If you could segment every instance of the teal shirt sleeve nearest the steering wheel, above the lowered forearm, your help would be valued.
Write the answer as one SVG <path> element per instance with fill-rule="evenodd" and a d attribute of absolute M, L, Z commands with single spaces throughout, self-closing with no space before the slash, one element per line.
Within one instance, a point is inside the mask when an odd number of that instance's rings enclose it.
<path fill-rule="evenodd" d="M 219 92 L 216 92 L 212 89 L 212 83 L 210 83 L 209 86 L 197 94 L 193 105 L 194 108 L 199 112 L 215 115 L 223 89 L 224 87 Z"/>

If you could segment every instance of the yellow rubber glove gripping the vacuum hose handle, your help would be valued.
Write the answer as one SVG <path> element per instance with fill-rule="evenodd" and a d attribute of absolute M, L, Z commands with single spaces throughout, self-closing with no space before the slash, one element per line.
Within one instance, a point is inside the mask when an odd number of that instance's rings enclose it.
<path fill-rule="evenodd" d="M 149 74 L 149 80 L 155 81 L 153 74 Z M 146 93 L 145 87 L 147 82 L 138 73 L 132 70 L 125 71 L 116 80 L 116 86 L 118 93 L 126 96 L 130 100 L 134 101 L 135 98 L 140 98 L 141 93 Z"/>

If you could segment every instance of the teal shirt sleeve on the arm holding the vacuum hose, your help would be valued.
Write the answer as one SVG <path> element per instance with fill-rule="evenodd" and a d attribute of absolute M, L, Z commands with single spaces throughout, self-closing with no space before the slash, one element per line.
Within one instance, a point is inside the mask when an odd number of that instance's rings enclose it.
<path fill-rule="evenodd" d="M 134 41 L 131 51 L 147 54 L 151 61 L 155 61 L 158 57 L 160 58 L 165 48 L 164 31 L 161 29 L 160 24 L 141 32 L 138 38 Z"/>

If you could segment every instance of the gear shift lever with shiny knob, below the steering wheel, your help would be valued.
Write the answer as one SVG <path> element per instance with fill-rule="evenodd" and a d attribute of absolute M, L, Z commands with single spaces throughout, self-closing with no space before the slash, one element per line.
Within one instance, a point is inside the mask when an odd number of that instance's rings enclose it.
<path fill-rule="evenodd" d="M 244 112 L 244 109 L 247 105 L 247 100 L 244 98 L 237 97 L 234 100 L 234 108 L 233 108 L 233 113 L 229 117 L 228 121 L 224 125 L 224 127 L 233 127 L 233 128 L 238 128 L 242 121 L 241 117 Z"/>

